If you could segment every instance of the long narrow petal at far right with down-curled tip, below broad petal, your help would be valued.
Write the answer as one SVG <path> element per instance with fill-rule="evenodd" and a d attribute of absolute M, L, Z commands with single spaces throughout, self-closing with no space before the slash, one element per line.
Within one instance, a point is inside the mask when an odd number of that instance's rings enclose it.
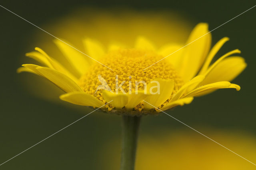
<path fill-rule="evenodd" d="M 236 84 L 231 84 L 230 82 L 216 82 L 196 88 L 192 92 L 186 94 L 184 97 L 202 96 L 204 94 L 208 94 L 209 91 L 212 92 L 212 90 L 221 88 L 235 88 L 237 91 L 240 90 L 240 86 Z"/>

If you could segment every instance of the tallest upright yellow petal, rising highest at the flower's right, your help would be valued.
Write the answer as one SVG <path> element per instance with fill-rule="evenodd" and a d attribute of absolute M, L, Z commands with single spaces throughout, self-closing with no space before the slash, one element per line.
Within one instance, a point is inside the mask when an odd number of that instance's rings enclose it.
<path fill-rule="evenodd" d="M 188 38 L 180 69 L 180 76 L 185 82 L 196 75 L 209 52 L 212 36 L 208 32 L 208 24 L 200 23 L 196 25 Z"/>

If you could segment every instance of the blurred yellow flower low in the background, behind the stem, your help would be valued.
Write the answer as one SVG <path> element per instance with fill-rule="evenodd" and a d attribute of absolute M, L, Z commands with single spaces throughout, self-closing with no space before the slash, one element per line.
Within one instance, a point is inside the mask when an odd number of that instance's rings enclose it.
<path fill-rule="evenodd" d="M 205 130 L 211 138 L 256 161 L 256 138 L 235 130 Z M 102 148 L 106 169 L 118 169 L 119 140 Z M 152 132 L 138 140 L 136 170 L 253 170 L 255 165 L 190 130 Z"/>

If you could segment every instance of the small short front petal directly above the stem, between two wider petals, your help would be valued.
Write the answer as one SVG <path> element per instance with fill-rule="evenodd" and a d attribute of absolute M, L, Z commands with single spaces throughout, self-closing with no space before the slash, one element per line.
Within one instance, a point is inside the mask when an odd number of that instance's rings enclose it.
<path fill-rule="evenodd" d="M 128 103 L 125 105 L 126 110 L 132 110 L 135 106 L 140 104 L 142 100 L 148 97 L 148 95 L 149 94 L 144 94 L 144 90 L 138 91 L 137 94 L 135 91 L 133 91 L 132 94 L 127 94 Z"/>

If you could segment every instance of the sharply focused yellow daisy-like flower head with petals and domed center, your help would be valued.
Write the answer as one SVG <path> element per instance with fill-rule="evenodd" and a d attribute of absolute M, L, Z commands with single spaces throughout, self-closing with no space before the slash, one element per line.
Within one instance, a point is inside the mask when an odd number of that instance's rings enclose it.
<path fill-rule="evenodd" d="M 189 104 L 195 96 L 216 89 L 240 90 L 240 86 L 230 83 L 246 67 L 243 58 L 231 56 L 240 51 L 228 52 L 211 64 L 228 38 L 222 38 L 210 50 L 211 34 L 206 34 L 208 32 L 208 24 L 198 24 L 186 42 L 192 43 L 185 48 L 182 47 L 186 44 L 156 48 L 154 43 L 139 36 L 133 46 L 105 44 L 108 50 L 104 50 L 100 42 L 87 38 L 83 44 L 90 57 L 55 40 L 78 74 L 73 74 L 40 48 L 26 56 L 44 66 L 24 64 L 18 72 L 33 72 L 48 79 L 66 92 L 60 99 L 73 104 L 101 107 L 111 101 L 102 109 L 117 114 L 157 113 Z"/>

